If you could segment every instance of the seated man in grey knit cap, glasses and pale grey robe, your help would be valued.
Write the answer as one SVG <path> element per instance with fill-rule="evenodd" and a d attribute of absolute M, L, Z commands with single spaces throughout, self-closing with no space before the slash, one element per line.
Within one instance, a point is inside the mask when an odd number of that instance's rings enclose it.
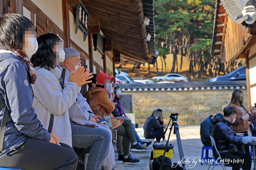
<path fill-rule="evenodd" d="M 65 80 L 64 80 L 64 87 L 65 87 L 65 84 L 69 82 L 70 71 L 73 70 L 73 72 L 75 72 L 76 68 L 81 65 L 80 64 L 81 57 L 79 52 L 76 51 L 75 49 L 66 48 L 64 49 L 64 51 L 65 51 L 65 60 L 62 63 L 62 66 L 66 68 Z M 96 126 L 99 126 L 99 128 L 105 129 L 110 133 L 111 140 L 110 140 L 110 144 L 106 152 L 106 155 L 103 159 L 102 167 L 104 170 L 114 170 L 113 165 L 115 165 L 115 153 L 114 153 L 114 148 L 112 144 L 112 132 L 105 124 L 96 123 L 96 121 L 98 121 L 98 118 L 101 118 L 101 117 L 95 116 L 93 114 L 92 109 L 90 108 L 89 104 L 86 102 L 86 98 L 84 98 L 81 93 L 77 94 L 77 100 L 68 109 L 68 112 L 69 112 L 69 119 L 72 123 L 95 124 Z M 86 142 L 86 139 L 85 139 L 85 142 Z M 75 147 L 81 148 L 81 147 L 78 147 L 79 144 L 76 144 L 75 141 L 73 143 Z M 91 150 L 93 150 L 93 148 Z"/>

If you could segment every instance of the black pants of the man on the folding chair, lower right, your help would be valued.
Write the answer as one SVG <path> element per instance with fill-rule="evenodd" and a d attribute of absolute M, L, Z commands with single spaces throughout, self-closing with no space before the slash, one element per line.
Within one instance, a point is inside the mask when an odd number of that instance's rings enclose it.
<path fill-rule="evenodd" d="M 224 163 L 228 163 L 232 165 L 232 170 L 240 170 L 241 160 L 243 160 L 243 170 L 250 170 L 252 165 L 252 158 L 249 153 L 243 153 L 241 151 L 237 151 L 237 153 L 221 153 L 222 159 L 229 159 L 229 162 L 224 161 Z M 239 160 L 239 162 L 234 162 Z M 232 161 L 232 162 L 231 162 Z"/>

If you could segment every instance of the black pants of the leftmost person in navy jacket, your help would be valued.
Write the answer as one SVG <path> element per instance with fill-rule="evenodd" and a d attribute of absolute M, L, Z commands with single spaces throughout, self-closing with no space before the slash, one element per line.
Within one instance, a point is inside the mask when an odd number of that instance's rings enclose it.
<path fill-rule="evenodd" d="M 60 144 L 28 137 L 21 148 L 0 158 L 0 166 L 26 170 L 75 170 L 78 161 L 76 153 L 70 146 Z"/>

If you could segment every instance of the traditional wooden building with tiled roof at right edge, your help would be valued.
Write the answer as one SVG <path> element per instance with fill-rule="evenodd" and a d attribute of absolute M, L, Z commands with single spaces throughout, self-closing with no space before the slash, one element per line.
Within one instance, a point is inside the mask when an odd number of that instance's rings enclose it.
<path fill-rule="evenodd" d="M 223 63 L 246 58 L 248 106 L 256 103 L 256 1 L 217 0 L 211 54 Z M 228 64 L 229 63 L 229 64 Z"/>

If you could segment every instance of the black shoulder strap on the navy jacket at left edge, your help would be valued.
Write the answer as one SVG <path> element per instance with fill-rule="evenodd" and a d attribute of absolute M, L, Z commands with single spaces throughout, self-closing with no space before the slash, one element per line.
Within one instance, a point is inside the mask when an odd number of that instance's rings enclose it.
<path fill-rule="evenodd" d="M 2 119 L 1 127 L 0 127 L 0 153 L 2 153 L 2 151 L 3 151 L 3 144 L 4 144 L 4 133 L 5 133 L 7 118 L 8 118 L 8 114 L 9 114 L 9 110 L 8 110 L 6 104 L 5 104 L 5 100 L 3 100 L 1 102 L 0 108 L 1 108 L 1 110 L 4 108 L 3 119 Z"/>

